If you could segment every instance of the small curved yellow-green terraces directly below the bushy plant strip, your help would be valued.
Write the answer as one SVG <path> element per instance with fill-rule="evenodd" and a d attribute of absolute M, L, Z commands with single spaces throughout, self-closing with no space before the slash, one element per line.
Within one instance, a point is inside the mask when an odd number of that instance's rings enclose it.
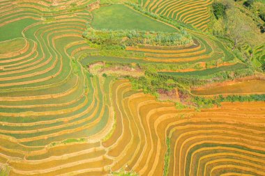
<path fill-rule="evenodd" d="M 214 40 L 205 38 L 203 35 L 196 35 L 192 45 L 180 48 L 159 48 L 149 46 L 128 47 L 128 51 L 144 54 L 144 60 L 150 62 L 164 63 L 199 63 L 209 61 L 233 61 L 234 56 L 228 56 L 227 49 L 221 48 Z"/>

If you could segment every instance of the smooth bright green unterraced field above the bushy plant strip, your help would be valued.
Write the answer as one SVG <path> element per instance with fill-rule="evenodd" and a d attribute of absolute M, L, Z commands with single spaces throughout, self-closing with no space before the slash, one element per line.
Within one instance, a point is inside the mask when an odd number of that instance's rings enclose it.
<path fill-rule="evenodd" d="M 95 29 L 138 29 L 146 31 L 174 32 L 176 29 L 157 22 L 134 10 L 115 4 L 93 11 L 92 26 Z"/>

